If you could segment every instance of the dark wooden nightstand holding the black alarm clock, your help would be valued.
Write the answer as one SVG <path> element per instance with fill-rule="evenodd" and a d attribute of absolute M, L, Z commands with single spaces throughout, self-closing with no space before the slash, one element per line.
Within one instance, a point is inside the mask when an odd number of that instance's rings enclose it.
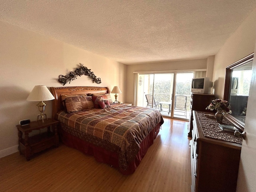
<path fill-rule="evenodd" d="M 49 118 L 44 119 L 44 122 L 38 120 L 24 126 L 16 125 L 16 127 L 18 128 L 20 154 L 24 154 L 27 161 L 34 153 L 59 145 L 58 121 L 56 120 Z M 29 137 L 30 132 L 46 127 L 47 132 Z M 23 133 L 24 138 L 22 137 Z"/>

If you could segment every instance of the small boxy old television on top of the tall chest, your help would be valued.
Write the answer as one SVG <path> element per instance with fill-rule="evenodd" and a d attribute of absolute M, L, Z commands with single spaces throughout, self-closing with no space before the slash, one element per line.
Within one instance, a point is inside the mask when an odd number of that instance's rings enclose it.
<path fill-rule="evenodd" d="M 193 78 L 191 83 L 192 93 L 209 93 L 212 82 L 208 77 Z"/>

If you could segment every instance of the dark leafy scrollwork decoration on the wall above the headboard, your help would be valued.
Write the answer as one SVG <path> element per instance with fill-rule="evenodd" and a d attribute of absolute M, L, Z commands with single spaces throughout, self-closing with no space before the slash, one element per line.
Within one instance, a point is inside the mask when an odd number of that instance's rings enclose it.
<path fill-rule="evenodd" d="M 74 70 L 74 72 L 70 72 L 67 75 L 59 75 L 59 79 L 58 81 L 62 84 L 65 85 L 67 82 L 71 82 L 73 80 L 76 80 L 78 76 L 82 76 L 82 75 L 86 75 L 88 77 L 90 77 L 92 79 L 92 82 L 96 82 L 97 84 L 101 83 L 100 78 L 97 78 L 96 75 L 94 75 L 94 73 L 88 69 L 87 67 L 85 67 L 83 64 L 80 64 L 80 68 L 76 68 L 76 70 Z"/>

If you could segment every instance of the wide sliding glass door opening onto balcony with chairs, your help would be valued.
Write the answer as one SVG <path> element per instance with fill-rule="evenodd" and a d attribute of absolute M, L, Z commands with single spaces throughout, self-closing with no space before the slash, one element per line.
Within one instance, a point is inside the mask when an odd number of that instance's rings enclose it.
<path fill-rule="evenodd" d="M 138 74 L 136 105 L 158 109 L 162 116 L 188 119 L 193 72 Z"/>

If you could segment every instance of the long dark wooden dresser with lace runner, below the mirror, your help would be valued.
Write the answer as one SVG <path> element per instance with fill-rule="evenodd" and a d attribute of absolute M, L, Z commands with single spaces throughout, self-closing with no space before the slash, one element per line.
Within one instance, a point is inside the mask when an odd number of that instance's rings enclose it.
<path fill-rule="evenodd" d="M 222 131 L 215 118 L 204 114 L 210 113 L 193 111 L 191 192 L 235 192 L 242 139 Z"/>

